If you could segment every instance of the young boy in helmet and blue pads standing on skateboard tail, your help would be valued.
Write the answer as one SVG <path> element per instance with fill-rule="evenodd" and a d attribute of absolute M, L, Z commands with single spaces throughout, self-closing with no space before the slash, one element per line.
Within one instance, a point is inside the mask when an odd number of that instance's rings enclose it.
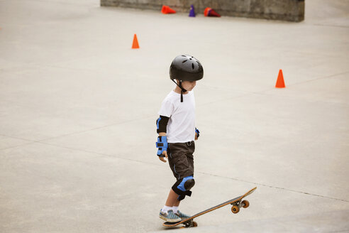
<path fill-rule="evenodd" d="M 194 139 L 199 137 L 195 128 L 195 99 L 192 90 L 197 80 L 204 76 L 204 69 L 196 58 L 179 55 L 170 66 L 170 79 L 176 83 L 173 91 L 162 102 L 157 119 L 157 156 L 160 161 L 169 161 L 177 182 L 172 186 L 159 217 L 166 222 L 179 222 L 189 217 L 179 212 L 178 207 L 194 186 Z M 175 82 L 174 80 L 177 80 Z"/>

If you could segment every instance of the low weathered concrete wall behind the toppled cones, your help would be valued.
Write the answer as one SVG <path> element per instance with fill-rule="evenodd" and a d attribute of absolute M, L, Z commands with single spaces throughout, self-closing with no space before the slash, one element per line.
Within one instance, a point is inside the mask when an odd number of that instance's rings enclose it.
<path fill-rule="evenodd" d="M 206 7 L 211 7 L 221 16 L 304 20 L 304 0 L 101 0 L 101 6 L 160 11 L 162 5 L 167 5 L 177 12 L 189 12 L 191 4 L 196 14 L 202 14 Z"/>

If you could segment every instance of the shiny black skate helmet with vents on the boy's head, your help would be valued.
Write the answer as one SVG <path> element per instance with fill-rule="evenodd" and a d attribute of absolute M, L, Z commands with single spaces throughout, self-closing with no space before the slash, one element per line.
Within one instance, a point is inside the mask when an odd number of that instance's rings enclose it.
<path fill-rule="evenodd" d="M 204 76 L 204 69 L 199 60 L 191 55 L 179 55 L 171 63 L 170 79 L 197 81 Z"/>

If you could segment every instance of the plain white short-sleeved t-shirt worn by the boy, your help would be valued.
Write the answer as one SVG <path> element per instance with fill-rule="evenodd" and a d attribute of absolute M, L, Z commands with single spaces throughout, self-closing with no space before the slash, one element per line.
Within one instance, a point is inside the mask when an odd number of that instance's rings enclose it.
<path fill-rule="evenodd" d="M 167 124 L 167 142 L 183 143 L 195 139 L 195 99 L 194 92 L 181 94 L 174 91 L 162 101 L 159 115 L 170 117 Z"/>

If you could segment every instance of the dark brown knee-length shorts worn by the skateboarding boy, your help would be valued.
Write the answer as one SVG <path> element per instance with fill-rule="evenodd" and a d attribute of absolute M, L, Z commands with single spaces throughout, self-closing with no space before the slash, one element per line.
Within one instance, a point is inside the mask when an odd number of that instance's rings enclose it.
<path fill-rule="evenodd" d="M 168 144 L 168 162 L 177 180 L 194 175 L 194 151 L 194 141 Z"/>

